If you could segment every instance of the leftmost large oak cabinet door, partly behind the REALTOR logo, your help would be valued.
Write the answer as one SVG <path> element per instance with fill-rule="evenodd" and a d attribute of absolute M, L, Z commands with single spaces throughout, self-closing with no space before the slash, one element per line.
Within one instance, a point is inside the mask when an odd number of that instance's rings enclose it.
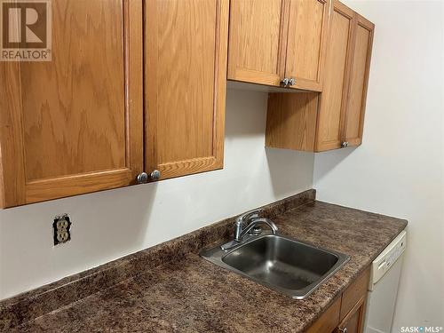
<path fill-rule="evenodd" d="M 141 3 L 53 1 L 52 61 L 1 63 L 4 207 L 134 183 L 143 166 Z"/>

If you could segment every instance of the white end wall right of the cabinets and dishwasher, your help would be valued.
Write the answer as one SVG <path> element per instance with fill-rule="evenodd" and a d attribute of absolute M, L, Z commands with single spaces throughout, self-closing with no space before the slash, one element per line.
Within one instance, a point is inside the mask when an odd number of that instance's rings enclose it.
<path fill-rule="evenodd" d="M 444 3 L 344 2 L 376 24 L 364 141 L 316 155 L 313 186 L 319 200 L 408 218 L 392 332 L 444 326 Z"/>

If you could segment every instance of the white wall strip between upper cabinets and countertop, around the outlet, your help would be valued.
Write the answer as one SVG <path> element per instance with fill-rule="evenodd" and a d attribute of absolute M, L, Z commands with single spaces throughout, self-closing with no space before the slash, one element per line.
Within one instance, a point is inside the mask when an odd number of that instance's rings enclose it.
<path fill-rule="evenodd" d="M 313 154 L 265 149 L 265 126 L 266 93 L 228 91 L 224 170 L 0 210 L 0 299 L 312 188 Z"/>

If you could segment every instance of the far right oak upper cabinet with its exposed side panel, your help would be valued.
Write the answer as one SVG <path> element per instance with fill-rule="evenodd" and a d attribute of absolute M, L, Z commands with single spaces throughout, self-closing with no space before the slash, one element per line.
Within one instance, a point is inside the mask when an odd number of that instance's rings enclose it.
<path fill-rule="evenodd" d="M 322 92 L 269 94 L 267 147 L 321 152 L 361 144 L 375 26 L 337 0 L 330 7 Z"/>

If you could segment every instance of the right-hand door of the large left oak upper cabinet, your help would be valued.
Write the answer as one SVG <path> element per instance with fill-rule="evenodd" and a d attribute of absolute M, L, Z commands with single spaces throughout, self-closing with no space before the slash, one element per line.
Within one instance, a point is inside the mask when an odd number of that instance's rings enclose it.
<path fill-rule="evenodd" d="M 227 0 L 147 0 L 145 165 L 161 178 L 223 166 Z"/>

